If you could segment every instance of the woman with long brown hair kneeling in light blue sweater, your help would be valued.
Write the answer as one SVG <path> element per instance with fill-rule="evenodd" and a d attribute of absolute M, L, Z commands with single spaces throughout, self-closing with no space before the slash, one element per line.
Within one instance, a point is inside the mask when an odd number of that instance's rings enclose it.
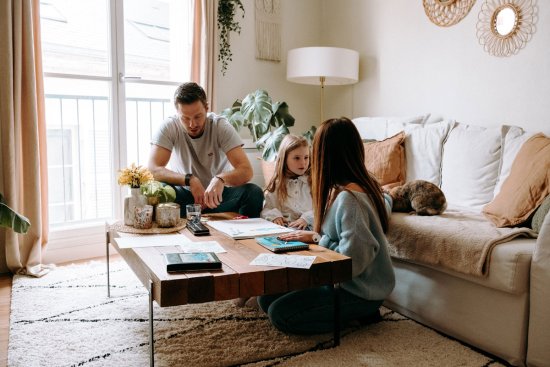
<path fill-rule="evenodd" d="M 385 232 L 391 198 L 365 168 L 363 142 L 348 118 L 323 122 L 313 140 L 311 178 L 315 231 L 294 231 L 284 240 L 318 242 L 352 259 L 352 279 L 342 283 L 344 325 L 369 321 L 395 285 Z M 278 329 L 316 334 L 334 326 L 330 286 L 258 298 Z"/>

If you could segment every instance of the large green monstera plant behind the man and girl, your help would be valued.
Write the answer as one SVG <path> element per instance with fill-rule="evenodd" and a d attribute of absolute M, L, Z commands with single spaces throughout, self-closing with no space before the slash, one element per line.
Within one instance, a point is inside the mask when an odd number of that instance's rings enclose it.
<path fill-rule="evenodd" d="M 273 102 L 269 94 L 258 89 L 247 94 L 242 100 L 237 99 L 233 106 L 221 113 L 229 123 L 239 131 L 246 127 L 250 130 L 252 141 L 262 155 L 264 179 L 269 182 L 273 175 L 274 161 L 277 158 L 279 145 L 294 126 L 294 117 L 289 112 L 286 102 Z M 316 127 L 302 133 L 309 143 L 313 140 Z"/>

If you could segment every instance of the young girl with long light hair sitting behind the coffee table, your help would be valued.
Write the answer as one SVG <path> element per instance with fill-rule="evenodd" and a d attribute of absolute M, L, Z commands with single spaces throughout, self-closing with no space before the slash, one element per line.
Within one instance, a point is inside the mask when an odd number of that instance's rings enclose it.
<path fill-rule="evenodd" d="M 262 218 L 297 229 L 311 228 L 313 208 L 309 156 L 309 144 L 305 138 L 291 134 L 284 137 L 275 163 L 275 174 L 265 190 Z"/>

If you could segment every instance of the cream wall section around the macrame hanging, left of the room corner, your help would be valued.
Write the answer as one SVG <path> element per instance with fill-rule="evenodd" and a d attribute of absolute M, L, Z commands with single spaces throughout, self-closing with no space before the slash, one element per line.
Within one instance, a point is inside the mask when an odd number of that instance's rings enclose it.
<path fill-rule="evenodd" d="M 321 5 L 319 0 L 281 0 L 282 31 L 280 62 L 257 60 L 255 58 L 254 0 L 243 0 L 244 19 L 239 21 L 242 30 L 231 34 L 233 61 L 227 73 L 216 76 L 217 112 L 230 107 L 246 94 L 262 88 L 268 91 L 274 101 L 285 101 L 290 113 L 296 118 L 291 129 L 302 133 L 319 121 L 319 94 L 315 86 L 295 84 L 286 80 L 286 55 L 288 50 L 318 46 L 321 42 Z"/>

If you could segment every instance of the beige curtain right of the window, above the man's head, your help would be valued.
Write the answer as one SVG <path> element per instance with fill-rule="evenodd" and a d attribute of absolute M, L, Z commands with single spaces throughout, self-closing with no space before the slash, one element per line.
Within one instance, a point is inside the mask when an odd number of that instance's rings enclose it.
<path fill-rule="evenodd" d="M 191 80 L 206 91 L 210 111 L 217 111 L 214 92 L 217 3 L 212 0 L 195 0 L 193 29 Z"/>

